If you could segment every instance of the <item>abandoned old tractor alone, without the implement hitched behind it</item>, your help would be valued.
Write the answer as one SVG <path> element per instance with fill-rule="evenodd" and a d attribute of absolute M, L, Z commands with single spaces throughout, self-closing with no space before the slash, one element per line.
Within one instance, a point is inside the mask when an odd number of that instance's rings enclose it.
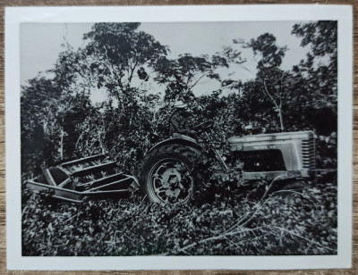
<path fill-rule="evenodd" d="M 140 185 L 159 204 L 187 203 L 200 183 L 220 178 L 238 185 L 259 180 L 305 181 L 315 169 L 312 131 L 229 137 L 214 142 L 209 122 L 197 138 L 175 133 L 153 146 L 141 165 Z"/>

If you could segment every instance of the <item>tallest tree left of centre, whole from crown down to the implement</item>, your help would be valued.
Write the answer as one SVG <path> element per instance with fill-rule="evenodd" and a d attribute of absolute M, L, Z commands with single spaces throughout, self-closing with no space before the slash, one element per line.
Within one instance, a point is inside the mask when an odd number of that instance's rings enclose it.
<path fill-rule="evenodd" d="M 82 71 L 90 76 L 92 89 L 109 96 L 102 108 L 106 133 L 101 143 L 127 170 L 135 169 L 125 164 L 131 158 L 141 161 L 142 140 L 148 139 L 153 117 L 143 84 L 153 81 L 150 75 L 167 53 L 166 46 L 139 27 L 140 23 L 96 23 L 83 36 L 86 45 L 81 52 Z"/>

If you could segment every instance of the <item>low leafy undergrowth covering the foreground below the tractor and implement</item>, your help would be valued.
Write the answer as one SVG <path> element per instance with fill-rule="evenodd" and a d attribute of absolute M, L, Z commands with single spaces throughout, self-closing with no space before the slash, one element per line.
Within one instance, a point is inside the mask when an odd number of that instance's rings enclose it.
<path fill-rule="evenodd" d="M 265 188 L 256 199 L 252 188 L 234 189 L 217 186 L 207 203 L 175 206 L 149 204 L 140 193 L 64 204 L 24 189 L 22 254 L 337 253 L 335 183 L 274 191 L 263 199 Z"/>

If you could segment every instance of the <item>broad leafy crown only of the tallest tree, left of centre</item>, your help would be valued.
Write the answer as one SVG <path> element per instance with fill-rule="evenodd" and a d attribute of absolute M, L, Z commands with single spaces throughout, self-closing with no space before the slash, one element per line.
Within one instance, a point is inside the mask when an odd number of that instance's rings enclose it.
<path fill-rule="evenodd" d="M 139 31 L 139 26 L 140 23 L 96 23 L 83 36 L 87 41 L 87 66 L 96 76 L 97 87 L 106 87 L 123 110 L 127 98 L 138 91 L 134 82 L 147 81 L 148 70 L 167 52 L 166 46 Z"/>

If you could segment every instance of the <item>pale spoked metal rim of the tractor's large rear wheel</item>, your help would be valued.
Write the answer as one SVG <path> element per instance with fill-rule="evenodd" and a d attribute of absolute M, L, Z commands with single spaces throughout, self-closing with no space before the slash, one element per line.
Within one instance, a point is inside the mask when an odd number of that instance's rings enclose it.
<path fill-rule="evenodd" d="M 165 159 L 149 171 L 149 195 L 162 204 L 186 203 L 192 196 L 194 181 L 188 166 L 176 159 Z"/>

